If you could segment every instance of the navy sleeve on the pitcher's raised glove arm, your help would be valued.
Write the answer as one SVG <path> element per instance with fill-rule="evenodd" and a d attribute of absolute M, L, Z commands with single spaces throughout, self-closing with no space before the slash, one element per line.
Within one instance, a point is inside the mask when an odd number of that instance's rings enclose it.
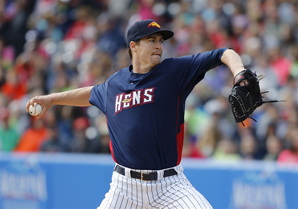
<path fill-rule="evenodd" d="M 205 73 L 221 64 L 221 56 L 228 48 L 220 48 L 195 55 L 170 58 L 171 74 L 177 81 L 179 94 L 190 93 Z"/>

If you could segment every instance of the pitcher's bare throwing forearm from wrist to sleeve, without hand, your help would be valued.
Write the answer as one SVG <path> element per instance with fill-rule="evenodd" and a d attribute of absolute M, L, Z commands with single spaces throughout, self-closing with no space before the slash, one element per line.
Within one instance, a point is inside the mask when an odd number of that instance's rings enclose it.
<path fill-rule="evenodd" d="M 52 105 L 90 106 L 89 98 L 93 86 L 49 94 Z"/>

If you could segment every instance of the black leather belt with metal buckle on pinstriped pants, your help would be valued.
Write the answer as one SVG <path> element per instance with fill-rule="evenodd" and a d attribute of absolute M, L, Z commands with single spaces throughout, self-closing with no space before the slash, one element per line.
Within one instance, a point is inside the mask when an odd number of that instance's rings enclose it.
<path fill-rule="evenodd" d="M 125 168 L 124 167 L 116 165 L 116 167 L 114 168 L 114 171 L 125 176 Z M 164 177 L 173 176 L 173 175 L 177 175 L 177 174 L 178 174 L 177 171 L 173 168 L 171 168 L 169 170 L 164 170 Z M 146 172 L 140 173 L 140 172 L 131 170 L 131 178 L 141 179 L 144 181 L 156 181 L 157 180 L 157 172 L 155 171 L 153 173 L 146 173 Z"/>

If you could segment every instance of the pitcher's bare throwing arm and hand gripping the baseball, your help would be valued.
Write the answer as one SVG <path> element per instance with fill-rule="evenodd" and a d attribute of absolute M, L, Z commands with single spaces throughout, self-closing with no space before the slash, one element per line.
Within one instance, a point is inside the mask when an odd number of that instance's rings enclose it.
<path fill-rule="evenodd" d="M 70 91 L 52 93 L 44 96 L 35 96 L 26 104 L 26 110 L 29 111 L 29 106 L 38 103 L 42 107 L 41 113 L 36 117 L 37 119 L 44 115 L 52 105 L 70 105 L 70 106 L 90 106 L 89 98 L 93 86 L 78 88 Z"/>

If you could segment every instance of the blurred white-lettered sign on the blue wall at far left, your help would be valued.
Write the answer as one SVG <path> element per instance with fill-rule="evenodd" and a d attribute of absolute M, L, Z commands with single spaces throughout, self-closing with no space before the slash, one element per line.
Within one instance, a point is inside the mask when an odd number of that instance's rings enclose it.
<path fill-rule="evenodd" d="M 2 162 L 1 208 L 45 208 L 48 201 L 47 174 L 36 158 Z"/>

